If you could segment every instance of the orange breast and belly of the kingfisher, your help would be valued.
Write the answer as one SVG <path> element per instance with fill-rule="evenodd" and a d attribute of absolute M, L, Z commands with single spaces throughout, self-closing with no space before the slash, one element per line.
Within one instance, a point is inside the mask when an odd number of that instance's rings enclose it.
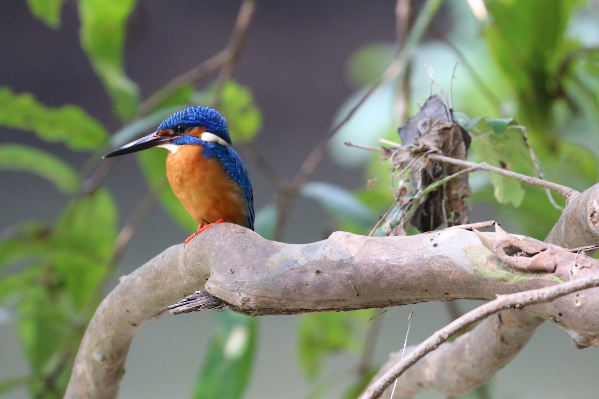
<path fill-rule="evenodd" d="M 200 224 L 224 218 L 247 227 L 243 192 L 200 145 L 181 145 L 167 157 L 168 182 L 187 212 Z"/>

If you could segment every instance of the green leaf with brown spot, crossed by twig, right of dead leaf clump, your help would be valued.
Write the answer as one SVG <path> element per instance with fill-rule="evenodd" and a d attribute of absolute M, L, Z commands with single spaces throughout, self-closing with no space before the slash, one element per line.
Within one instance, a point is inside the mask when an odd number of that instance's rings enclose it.
<path fill-rule="evenodd" d="M 483 162 L 524 175 L 534 175 L 534 164 L 522 137 L 522 130 L 507 120 L 479 120 L 470 130 L 471 148 Z M 521 182 L 491 173 L 495 199 L 520 206 L 524 199 Z"/>

